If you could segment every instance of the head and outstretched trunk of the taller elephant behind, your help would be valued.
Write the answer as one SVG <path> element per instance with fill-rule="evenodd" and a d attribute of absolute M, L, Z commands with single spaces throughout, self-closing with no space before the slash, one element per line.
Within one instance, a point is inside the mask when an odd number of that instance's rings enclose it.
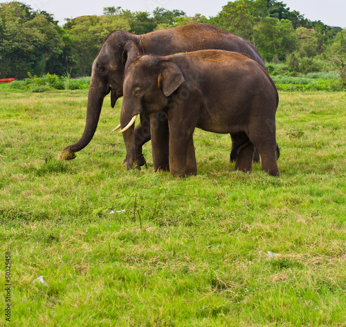
<path fill-rule="evenodd" d="M 111 93 L 111 106 L 122 96 L 125 68 L 139 55 L 139 37 L 129 32 L 112 32 L 104 42 L 92 66 L 86 124 L 82 137 L 75 144 L 64 148 L 60 158 L 71 160 L 89 144 L 95 134 L 104 97 Z"/>

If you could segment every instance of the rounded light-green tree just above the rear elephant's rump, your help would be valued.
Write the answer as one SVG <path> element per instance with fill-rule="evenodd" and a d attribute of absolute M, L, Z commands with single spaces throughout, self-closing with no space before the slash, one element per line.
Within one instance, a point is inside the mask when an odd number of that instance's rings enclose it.
<path fill-rule="evenodd" d="M 288 19 L 280 21 L 265 17 L 255 26 L 254 42 L 264 59 L 271 60 L 276 56 L 283 60 L 287 53 L 295 50 L 297 37 L 292 22 Z"/>

